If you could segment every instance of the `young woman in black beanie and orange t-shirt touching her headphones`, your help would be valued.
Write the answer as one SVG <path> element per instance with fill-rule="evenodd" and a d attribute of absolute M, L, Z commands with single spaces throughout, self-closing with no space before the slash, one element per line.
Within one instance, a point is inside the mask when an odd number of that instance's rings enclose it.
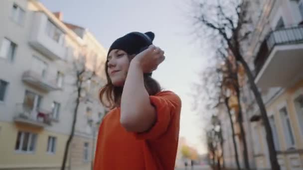
<path fill-rule="evenodd" d="M 153 39 L 131 32 L 109 49 L 100 100 L 112 110 L 100 125 L 94 170 L 174 169 L 181 100 L 151 77 L 164 60 Z"/>

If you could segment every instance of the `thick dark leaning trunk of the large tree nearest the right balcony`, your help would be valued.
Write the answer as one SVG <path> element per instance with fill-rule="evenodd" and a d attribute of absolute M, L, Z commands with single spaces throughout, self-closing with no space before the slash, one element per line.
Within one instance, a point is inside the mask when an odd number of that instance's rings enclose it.
<path fill-rule="evenodd" d="M 237 56 L 237 59 L 241 62 L 241 64 L 243 65 L 246 75 L 248 77 L 248 81 L 249 84 L 251 86 L 251 89 L 255 95 L 257 104 L 259 106 L 260 109 L 260 113 L 261 113 L 261 118 L 265 127 L 265 131 L 266 131 L 266 140 L 267 140 L 267 145 L 268 145 L 268 150 L 269 150 L 269 158 L 270 158 L 270 162 L 271 162 L 271 167 L 272 170 L 280 170 L 280 166 L 277 160 L 277 152 L 275 150 L 275 145 L 274 145 L 274 138 L 273 138 L 273 134 L 272 134 L 272 130 L 271 130 L 271 126 L 267 117 L 267 112 L 265 109 L 265 105 L 264 102 L 262 100 L 261 97 L 261 93 L 258 90 L 257 85 L 255 84 L 255 80 L 254 80 L 254 76 L 248 66 L 248 64 L 246 63 L 246 61 L 244 60 L 244 58 L 241 55 Z"/>

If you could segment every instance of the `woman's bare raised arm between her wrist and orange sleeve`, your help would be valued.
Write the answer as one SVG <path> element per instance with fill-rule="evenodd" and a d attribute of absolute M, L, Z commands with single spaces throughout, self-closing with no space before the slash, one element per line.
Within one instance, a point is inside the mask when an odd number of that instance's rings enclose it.
<path fill-rule="evenodd" d="M 121 97 L 120 122 L 128 131 L 148 130 L 156 119 L 139 62 L 132 60 Z"/>

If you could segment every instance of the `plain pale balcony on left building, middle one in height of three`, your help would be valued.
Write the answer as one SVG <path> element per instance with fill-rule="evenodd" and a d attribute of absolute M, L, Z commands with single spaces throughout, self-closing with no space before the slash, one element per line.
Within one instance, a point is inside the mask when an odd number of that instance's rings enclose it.
<path fill-rule="evenodd" d="M 43 91 L 54 91 L 61 89 L 57 84 L 55 79 L 47 80 L 34 71 L 28 70 L 25 71 L 22 75 L 22 81 L 29 85 L 33 85 Z"/>

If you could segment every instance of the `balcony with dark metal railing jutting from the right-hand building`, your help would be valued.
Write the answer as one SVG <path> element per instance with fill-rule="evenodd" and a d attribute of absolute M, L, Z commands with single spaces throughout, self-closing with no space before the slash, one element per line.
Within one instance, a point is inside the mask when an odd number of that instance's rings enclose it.
<path fill-rule="evenodd" d="M 255 83 L 261 88 L 287 87 L 303 71 L 303 26 L 272 31 L 254 61 Z"/>

